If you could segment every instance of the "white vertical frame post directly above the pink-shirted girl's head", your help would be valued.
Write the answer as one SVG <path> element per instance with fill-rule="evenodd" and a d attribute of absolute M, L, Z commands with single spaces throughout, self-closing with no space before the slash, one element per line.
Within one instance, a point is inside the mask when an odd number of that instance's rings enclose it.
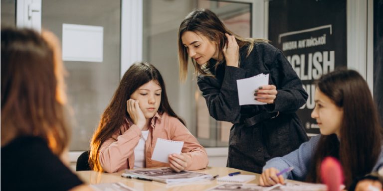
<path fill-rule="evenodd" d="M 121 2 L 121 78 L 136 61 L 142 61 L 143 2 Z"/>

